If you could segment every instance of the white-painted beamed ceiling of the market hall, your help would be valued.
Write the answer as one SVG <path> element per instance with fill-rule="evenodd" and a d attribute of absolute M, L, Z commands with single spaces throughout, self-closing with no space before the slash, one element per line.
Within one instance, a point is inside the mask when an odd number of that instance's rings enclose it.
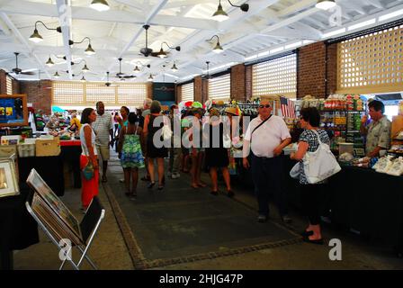
<path fill-rule="evenodd" d="M 73 67 L 63 63 L 54 55 L 66 56 L 78 62 L 85 59 L 90 72 L 85 78 L 90 81 L 105 81 L 106 71 L 115 75 L 119 71 L 118 58 L 123 58 L 122 72 L 133 74 L 136 63 L 150 64 L 143 67 L 137 78 L 130 81 L 145 82 L 148 75 L 155 75 L 156 81 L 181 82 L 186 78 L 204 72 L 205 61 L 210 61 L 210 69 L 230 63 L 242 63 L 257 53 L 268 55 L 285 49 L 295 49 L 311 41 L 324 40 L 329 31 L 338 31 L 355 23 L 375 19 L 360 29 L 399 19 L 398 14 L 381 21 L 379 17 L 396 11 L 403 12 L 403 0 L 336 0 L 341 8 L 342 26 L 332 26 L 329 18 L 335 11 L 323 11 L 315 7 L 316 0 L 233 0 L 233 4 L 249 4 L 244 13 L 232 7 L 227 0 L 221 0 L 229 19 L 224 22 L 212 20 L 219 0 L 107 0 L 111 9 L 97 12 L 89 8 L 92 0 L 0 0 L 0 67 L 11 71 L 15 67 L 13 52 L 20 52 L 19 67 L 40 69 L 41 78 L 50 78 L 58 71 L 61 79 L 79 79 L 71 74 L 79 74 L 84 62 Z M 71 13 L 63 12 L 64 4 Z M 63 33 L 46 30 L 38 25 L 43 41 L 35 44 L 29 40 L 36 21 L 46 23 L 49 28 L 63 26 Z M 61 25 L 67 23 L 67 25 Z M 145 47 L 145 31 L 148 23 L 148 47 L 154 51 L 161 48 L 163 41 L 171 47 L 181 46 L 181 51 L 171 49 L 168 58 L 144 57 L 139 50 Z M 356 29 L 354 31 L 359 31 Z M 219 35 L 219 42 L 225 51 L 212 52 L 216 40 L 209 42 L 213 35 Z M 69 36 L 70 35 L 70 36 Z M 88 57 L 84 50 L 87 41 L 67 45 L 67 40 L 80 41 L 91 38 L 96 54 Z M 289 46 L 291 44 L 291 46 Z M 294 45 L 292 45 L 294 44 Z M 164 49 L 167 49 L 164 46 Z M 45 66 L 49 55 L 54 62 Z M 271 55 L 271 54 L 270 54 Z M 179 68 L 172 72 L 175 60 Z M 163 67 L 165 66 L 165 67 Z M 72 71 L 67 74 L 63 71 Z M 20 79 L 36 76 L 17 76 Z M 110 79 L 111 81 L 113 78 Z"/>

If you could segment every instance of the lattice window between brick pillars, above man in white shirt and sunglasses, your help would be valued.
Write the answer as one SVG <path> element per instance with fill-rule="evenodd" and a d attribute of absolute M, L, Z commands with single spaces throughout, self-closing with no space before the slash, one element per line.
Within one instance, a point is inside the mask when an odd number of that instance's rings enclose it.
<path fill-rule="evenodd" d="M 297 55 L 291 54 L 252 67 L 252 96 L 297 96 Z"/>

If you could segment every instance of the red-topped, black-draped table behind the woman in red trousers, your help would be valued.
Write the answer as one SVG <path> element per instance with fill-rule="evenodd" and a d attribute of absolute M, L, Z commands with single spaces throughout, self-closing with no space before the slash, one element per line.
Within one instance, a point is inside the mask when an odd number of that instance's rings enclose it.
<path fill-rule="evenodd" d="M 80 140 L 60 140 L 61 153 L 60 157 L 63 163 L 68 167 L 68 171 L 73 175 L 73 187 L 81 188 L 81 171 L 80 171 Z"/>

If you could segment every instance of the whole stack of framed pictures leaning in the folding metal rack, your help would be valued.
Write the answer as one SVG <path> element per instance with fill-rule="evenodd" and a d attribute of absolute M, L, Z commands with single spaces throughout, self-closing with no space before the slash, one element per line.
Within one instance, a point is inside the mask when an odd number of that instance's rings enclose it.
<path fill-rule="evenodd" d="M 63 229 L 63 231 L 59 231 L 58 235 L 67 234 L 73 243 L 83 244 L 78 220 L 33 168 L 27 178 L 27 184 L 40 195 L 40 199 L 36 199 L 35 202 L 38 204 L 37 212 L 40 213 L 42 220 L 48 222 L 51 227 L 55 227 L 51 223 L 57 222 L 56 226 Z"/>

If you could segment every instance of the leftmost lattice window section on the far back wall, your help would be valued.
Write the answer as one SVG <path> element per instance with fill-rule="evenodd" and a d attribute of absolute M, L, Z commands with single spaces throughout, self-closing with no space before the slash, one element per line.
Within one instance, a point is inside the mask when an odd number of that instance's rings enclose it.
<path fill-rule="evenodd" d="M 52 104 L 85 104 L 84 84 L 81 82 L 54 81 Z"/>

